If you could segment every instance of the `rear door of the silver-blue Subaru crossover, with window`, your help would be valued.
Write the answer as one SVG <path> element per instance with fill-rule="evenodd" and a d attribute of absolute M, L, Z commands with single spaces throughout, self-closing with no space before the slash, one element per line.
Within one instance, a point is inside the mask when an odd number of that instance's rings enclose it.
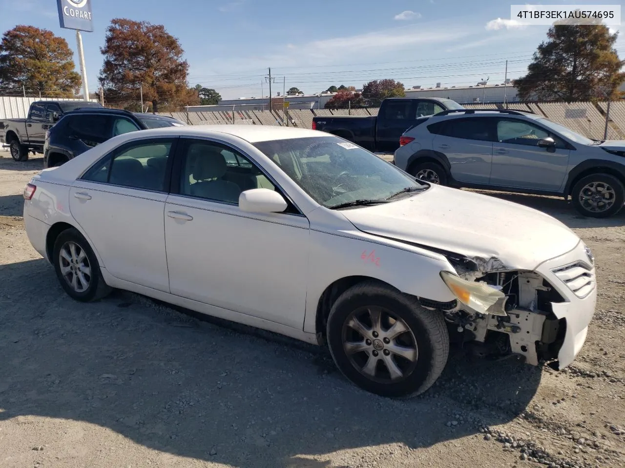
<path fill-rule="evenodd" d="M 459 182 L 487 184 L 491 177 L 493 120 L 461 117 L 428 125 L 432 149 L 447 157 L 451 175 Z"/>

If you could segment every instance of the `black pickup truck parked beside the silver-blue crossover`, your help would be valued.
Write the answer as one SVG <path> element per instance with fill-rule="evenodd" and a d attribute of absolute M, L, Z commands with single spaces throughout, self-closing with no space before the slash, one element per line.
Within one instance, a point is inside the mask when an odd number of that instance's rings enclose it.
<path fill-rule="evenodd" d="M 313 117 L 312 129 L 349 140 L 379 153 L 399 148 L 399 137 L 443 110 L 464 109 L 451 99 L 437 97 L 392 97 L 382 100 L 377 115 L 370 117 Z"/>

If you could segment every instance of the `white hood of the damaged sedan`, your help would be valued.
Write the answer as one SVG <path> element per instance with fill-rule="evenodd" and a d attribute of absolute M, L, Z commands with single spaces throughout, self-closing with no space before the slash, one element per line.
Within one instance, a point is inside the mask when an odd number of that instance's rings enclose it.
<path fill-rule="evenodd" d="M 461 254 L 483 271 L 534 270 L 579 243 L 564 224 L 537 210 L 437 185 L 342 213 L 363 232 Z"/>

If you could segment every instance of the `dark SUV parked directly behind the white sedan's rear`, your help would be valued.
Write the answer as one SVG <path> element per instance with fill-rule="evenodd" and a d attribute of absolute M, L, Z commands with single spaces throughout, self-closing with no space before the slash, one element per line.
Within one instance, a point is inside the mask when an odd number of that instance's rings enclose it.
<path fill-rule="evenodd" d="M 46 132 L 44 167 L 63 165 L 117 135 L 158 127 L 181 127 L 172 117 L 118 109 L 77 109 L 66 113 Z"/>

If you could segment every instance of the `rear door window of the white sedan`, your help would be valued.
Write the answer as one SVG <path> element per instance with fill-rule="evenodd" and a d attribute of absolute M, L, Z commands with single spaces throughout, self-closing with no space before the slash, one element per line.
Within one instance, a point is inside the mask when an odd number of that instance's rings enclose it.
<path fill-rule="evenodd" d="M 91 182 L 164 192 L 172 145 L 172 139 L 142 140 L 124 145 L 90 168 L 82 178 Z"/>

